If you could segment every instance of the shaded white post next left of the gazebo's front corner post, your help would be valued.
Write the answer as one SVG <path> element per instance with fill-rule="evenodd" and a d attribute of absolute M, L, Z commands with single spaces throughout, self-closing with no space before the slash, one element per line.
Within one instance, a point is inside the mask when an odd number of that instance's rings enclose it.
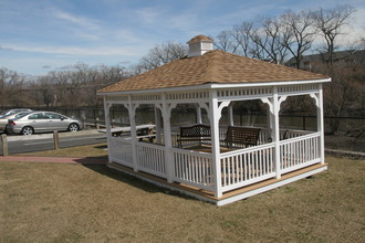
<path fill-rule="evenodd" d="M 163 94 L 163 116 L 164 116 L 164 136 L 165 136 L 165 168 L 167 173 L 167 182 L 171 183 L 174 180 L 174 158 L 170 149 L 173 148 L 171 141 L 171 109 L 176 107 L 176 104 L 167 104 L 166 94 Z"/>

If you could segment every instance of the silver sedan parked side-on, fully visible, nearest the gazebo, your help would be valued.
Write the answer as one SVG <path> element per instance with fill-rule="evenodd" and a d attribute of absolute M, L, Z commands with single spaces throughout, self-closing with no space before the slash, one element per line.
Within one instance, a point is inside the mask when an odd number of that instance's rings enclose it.
<path fill-rule="evenodd" d="M 22 116 L 9 119 L 8 133 L 32 135 L 53 130 L 77 131 L 83 129 L 83 123 L 79 119 L 51 112 L 31 112 Z"/>

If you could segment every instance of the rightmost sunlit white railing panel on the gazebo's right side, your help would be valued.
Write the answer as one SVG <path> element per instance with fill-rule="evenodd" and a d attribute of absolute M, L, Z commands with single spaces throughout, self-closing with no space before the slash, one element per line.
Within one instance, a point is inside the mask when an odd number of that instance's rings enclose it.
<path fill-rule="evenodd" d="M 281 172 L 290 172 L 321 161 L 320 133 L 280 141 Z"/>

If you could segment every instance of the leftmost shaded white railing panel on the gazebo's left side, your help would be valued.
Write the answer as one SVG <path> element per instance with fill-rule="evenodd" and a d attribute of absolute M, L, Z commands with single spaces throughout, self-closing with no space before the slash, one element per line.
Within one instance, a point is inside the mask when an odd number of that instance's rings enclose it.
<path fill-rule="evenodd" d="M 111 160 L 124 166 L 133 166 L 132 141 L 119 137 L 111 138 Z"/>

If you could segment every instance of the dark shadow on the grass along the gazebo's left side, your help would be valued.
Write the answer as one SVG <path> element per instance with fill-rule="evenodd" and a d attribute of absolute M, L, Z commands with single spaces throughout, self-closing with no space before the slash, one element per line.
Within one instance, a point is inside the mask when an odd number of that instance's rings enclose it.
<path fill-rule="evenodd" d="M 118 171 L 116 169 L 112 169 L 106 167 L 107 157 L 86 157 L 84 159 L 79 159 L 77 162 L 86 167 L 87 169 L 91 169 L 100 175 L 103 175 L 105 177 L 112 178 L 114 180 L 117 180 L 123 183 L 127 183 L 129 186 L 136 187 L 138 189 L 142 189 L 149 193 L 164 193 L 168 196 L 177 196 L 179 198 L 184 198 L 187 200 L 195 200 L 197 199 L 189 197 L 187 194 L 184 194 L 178 191 L 173 191 L 164 187 L 158 187 L 154 183 L 150 183 L 148 181 L 145 181 L 143 179 L 139 179 L 137 177 L 134 177 L 132 175 Z"/>

